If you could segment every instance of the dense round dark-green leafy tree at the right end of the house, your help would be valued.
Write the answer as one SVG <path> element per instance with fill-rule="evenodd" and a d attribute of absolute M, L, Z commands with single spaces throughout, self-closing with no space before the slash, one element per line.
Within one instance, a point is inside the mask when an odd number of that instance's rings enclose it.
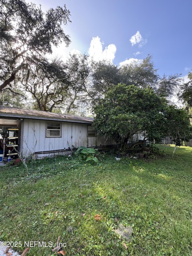
<path fill-rule="evenodd" d="M 149 140 L 173 135 L 179 141 L 190 136 L 186 111 L 169 106 L 150 87 L 113 86 L 93 110 L 96 115 L 93 125 L 98 134 L 113 137 L 121 148 L 140 132 Z"/>

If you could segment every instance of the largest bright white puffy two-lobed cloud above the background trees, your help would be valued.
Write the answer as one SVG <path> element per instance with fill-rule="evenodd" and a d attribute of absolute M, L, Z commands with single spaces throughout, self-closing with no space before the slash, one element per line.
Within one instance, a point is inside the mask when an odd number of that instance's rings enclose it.
<path fill-rule="evenodd" d="M 95 61 L 106 59 L 112 62 L 115 58 L 115 53 L 117 50 L 115 44 L 108 45 L 104 50 L 102 45 L 103 43 L 98 36 L 93 37 L 91 40 L 90 48 L 88 50 L 89 56 L 92 57 Z"/>

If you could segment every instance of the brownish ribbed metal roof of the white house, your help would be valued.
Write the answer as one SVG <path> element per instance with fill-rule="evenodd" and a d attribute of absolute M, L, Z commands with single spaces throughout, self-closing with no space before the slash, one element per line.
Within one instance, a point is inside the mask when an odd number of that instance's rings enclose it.
<path fill-rule="evenodd" d="M 78 122 L 78 123 L 92 123 L 92 117 L 64 115 L 40 110 L 31 110 L 17 107 L 0 106 L 1 118 L 28 118 L 28 119 L 43 119 L 54 121 Z"/>

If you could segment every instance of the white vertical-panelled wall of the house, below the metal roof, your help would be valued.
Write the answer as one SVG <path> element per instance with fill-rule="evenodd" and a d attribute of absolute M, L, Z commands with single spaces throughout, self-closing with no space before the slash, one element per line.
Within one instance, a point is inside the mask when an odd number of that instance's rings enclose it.
<path fill-rule="evenodd" d="M 29 157 L 29 155 L 34 153 L 34 151 L 36 152 L 37 157 L 70 154 L 71 151 L 69 148 L 78 148 L 79 146 L 106 146 L 115 144 L 115 141 L 111 138 L 87 137 L 87 124 L 74 122 L 61 122 L 61 124 L 62 137 L 46 138 L 45 120 L 24 119 L 21 124 L 20 139 L 20 152 L 22 152 L 22 156 Z M 51 153 L 53 150 L 59 151 L 63 149 L 66 151 Z M 42 151 L 49 152 L 40 153 Z"/>

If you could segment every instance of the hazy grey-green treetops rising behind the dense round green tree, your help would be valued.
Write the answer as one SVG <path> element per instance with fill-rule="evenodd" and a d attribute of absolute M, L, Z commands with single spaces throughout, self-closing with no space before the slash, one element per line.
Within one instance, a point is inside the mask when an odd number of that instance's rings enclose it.
<path fill-rule="evenodd" d="M 98 98 L 104 97 L 108 89 L 118 83 L 134 84 L 140 88 L 149 86 L 159 96 L 170 98 L 182 81 L 181 74 L 168 76 L 164 74 L 161 77 L 155 69 L 151 55 L 142 61 L 134 61 L 119 67 L 105 60 L 93 62 L 92 66 L 93 83 L 90 91 L 92 98 L 95 99 L 94 104 Z"/>

